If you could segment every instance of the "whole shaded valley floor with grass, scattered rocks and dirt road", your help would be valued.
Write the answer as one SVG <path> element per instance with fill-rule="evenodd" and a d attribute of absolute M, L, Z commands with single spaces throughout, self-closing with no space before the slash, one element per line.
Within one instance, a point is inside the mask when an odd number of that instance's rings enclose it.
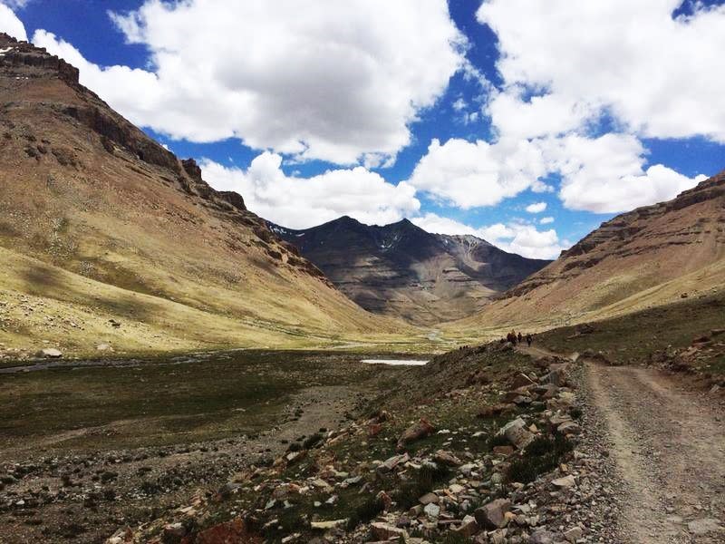
<path fill-rule="evenodd" d="M 194 542 L 237 519 L 254 542 L 722 542 L 723 300 L 683 304 L 418 367 L 246 350 L 0 368 L 0 543 Z"/>

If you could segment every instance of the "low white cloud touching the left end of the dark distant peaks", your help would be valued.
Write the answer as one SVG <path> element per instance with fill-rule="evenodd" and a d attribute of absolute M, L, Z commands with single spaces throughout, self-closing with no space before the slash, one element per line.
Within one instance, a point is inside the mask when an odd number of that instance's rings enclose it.
<path fill-rule="evenodd" d="M 384 225 L 417 214 L 420 202 L 406 182 L 393 185 L 357 166 L 328 170 L 312 178 L 287 176 L 282 157 L 265 151 L 248 169 L 202 160 L 204 179 L 218 190 L 240 193 L 247 208 L 289 228 L 309 228 L 343 215 Z"/>

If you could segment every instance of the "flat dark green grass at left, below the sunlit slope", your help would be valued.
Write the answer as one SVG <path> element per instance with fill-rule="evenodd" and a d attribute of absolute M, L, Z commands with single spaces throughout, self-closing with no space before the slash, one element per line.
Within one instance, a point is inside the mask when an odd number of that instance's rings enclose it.
<path fill-rule="evenodd" d="M 56 368 L 5 374 L 0 442 L 111 425 L 65 447 L 110 448 L 218 439 L 269 428 L 307 387 L 358 385 L 379 374 L 359 356 L 236 352 L 194 363 Z M 170 363 L 170 364 L 169 364 Z M 319 436 L 306 439 L 312 447 Z"/>

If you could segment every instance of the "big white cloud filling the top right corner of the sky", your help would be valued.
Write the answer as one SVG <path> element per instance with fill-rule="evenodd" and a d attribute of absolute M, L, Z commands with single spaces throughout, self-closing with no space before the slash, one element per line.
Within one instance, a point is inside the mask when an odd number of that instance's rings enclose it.
<path fill-rule="evenodd" d="M 725 141 L 725 5 L 673 17 L 681 4 L 486 0 L 478 21 L 498 36 L 505 80 L 498 130 L 556 134 L 605 111 L 639 135 Z"/>

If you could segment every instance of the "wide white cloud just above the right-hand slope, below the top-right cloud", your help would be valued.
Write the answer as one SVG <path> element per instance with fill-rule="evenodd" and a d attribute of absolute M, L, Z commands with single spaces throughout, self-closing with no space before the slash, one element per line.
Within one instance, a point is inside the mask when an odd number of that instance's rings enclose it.
<path fill-rule="evenodd" d="M 561 177 L 558 197 L 566 208 L 614 213 L 672 199 L 706 178 L 689 178 L 662 164 L 645 169 L 646 156 L 632 134 L 495 143 L 433 140 L 410 183 L 445 204 L 470 209 L 497 205 L 527 189 L 548 190 L 543 179 L 556 174 Z M 545 202 L 527 207 L 531 213 L 545 209 Z"/>

